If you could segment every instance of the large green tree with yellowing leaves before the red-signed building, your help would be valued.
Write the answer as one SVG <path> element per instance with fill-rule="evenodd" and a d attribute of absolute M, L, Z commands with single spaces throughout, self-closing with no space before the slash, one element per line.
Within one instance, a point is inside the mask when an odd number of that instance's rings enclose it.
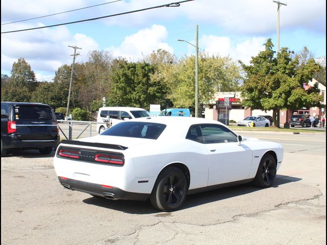
<path fill-rule="evenodd" d="M 250 65 L 240 62 L 246 71 L 242 104 L 253 109 L 273 110 L 274 124 L 279 127 L 277 113 L 280 109 L 296 110 L 320 104 L 317 85 L 308 90 L 303 88 L 312 80 L 319 65 L 313 59 L 299 65 L 298 57 L 292 59 L 285 47 L 274 57 L 271 39 L 264 45 L 265 51 L 252 57 Z"/>

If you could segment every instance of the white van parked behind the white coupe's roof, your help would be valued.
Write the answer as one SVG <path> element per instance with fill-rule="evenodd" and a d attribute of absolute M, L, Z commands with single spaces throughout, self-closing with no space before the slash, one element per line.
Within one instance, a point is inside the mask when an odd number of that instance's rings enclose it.
<path fill-rule="evenodd" d="M 107 116 L 109 116 L 109 121 L 106 121 Z M 101 107 L 99 108 L 97 121 L 103 122 L 103 124 L 97 124 L 97 132 L 100 134 L 123 120 L 147 116 L 150 116 L 148 111 L 137 107 Z"/>

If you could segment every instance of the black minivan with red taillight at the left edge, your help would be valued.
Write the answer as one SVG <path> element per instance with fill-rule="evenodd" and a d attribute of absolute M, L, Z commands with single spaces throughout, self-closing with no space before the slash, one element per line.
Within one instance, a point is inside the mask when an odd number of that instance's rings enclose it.
<path fill-rule="evenodd" d="M 10 149 L 38 149 L 50 154 L 60 142 L 59 126 L 49 105 L 1 102 L 1 156 Z"/>

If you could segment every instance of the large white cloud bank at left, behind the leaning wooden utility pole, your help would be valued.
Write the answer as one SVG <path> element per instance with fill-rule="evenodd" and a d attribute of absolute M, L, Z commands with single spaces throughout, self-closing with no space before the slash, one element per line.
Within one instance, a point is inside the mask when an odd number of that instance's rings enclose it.
<path fill-rule="evenodd" d="M 16 27 L 21 29 L 29 26 L 19 24 Z M 77 62 L 86 60 L 89 51 L 99 49 L 94 39 L 79 33 L 73 36 L 66 27 L 3 34 L 1 69 L 8 72 L 18 58 L 24 58 L 32 70 L 54 74 L 61 65 L 71 64 L 73 61 L 71 55 L 74 54 L 74 50 L 68 45 L 82 48 L 77 50 L 81 55 Z"/>

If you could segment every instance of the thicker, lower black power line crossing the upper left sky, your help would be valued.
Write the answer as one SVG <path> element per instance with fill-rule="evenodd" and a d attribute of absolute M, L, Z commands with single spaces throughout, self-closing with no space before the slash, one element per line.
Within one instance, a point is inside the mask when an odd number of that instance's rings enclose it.
<path fill-rule="evenodd" d="M 61 24 L 53 24 L 51 26 L 44 26 L 44 27 L 36 27 L 36 28 L 29 28 L 29 29 L 22 29 L 22 30 L 2 32 L 1 34 L 13 33 L 13 32 L 24 32 L 24 31 L 31 31 L 31 30 L 36 30 L 36 29 L 43 29 L 43 28 L 64 26 L 66 24 L 74 24 L 74 23 L 79 23 L 79 22 L 85 22 L 85 21 L 103 19 L 103 18 L 108 18 L 108 17 L 113 17 L 113 16 L 119 16 L 119 15 L 124 15 L 124 14 L 131 14 L 131 13 L 141 12 L 141 11 L 150 10 L 150 9 L 157 9 L 157 8 L 162 8 L 162 7 L 179 7 L 181 3 L 191 2 L 191 1 L 194 1 L 194 0 L 185 0 L 185 1 L 181 1 L 181 2 L 164 4 L 164 5 L 149 7 L 149 8 L 145 8 L 145 9 L 138 9 L 138 10 L 128 11 L 128 12 L 119 13 L 119 14 L 111 14 L 111 15 L 106 15 L 106 16 L 101 16 L 101 17 L 96 17 L 96 18 L 91 18 L 91 19 L 77 20 L 77 21 L 66 22 L 66 23 L 61 23 Z"/>

